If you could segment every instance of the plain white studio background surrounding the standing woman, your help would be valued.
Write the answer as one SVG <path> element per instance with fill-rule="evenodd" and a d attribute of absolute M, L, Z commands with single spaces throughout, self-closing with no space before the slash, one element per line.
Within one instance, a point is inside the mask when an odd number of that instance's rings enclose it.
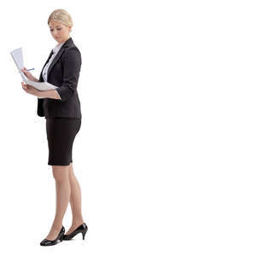
<path fill-rule="evenodd" d="M 254 3 L 5 2 L 0 253 L 255 255 Z M 41 247 L 55 216 L 45 119 L 9 52 L 39 78 L 60 8 L 82 55 L 73 166 L 89 229 Z"/>

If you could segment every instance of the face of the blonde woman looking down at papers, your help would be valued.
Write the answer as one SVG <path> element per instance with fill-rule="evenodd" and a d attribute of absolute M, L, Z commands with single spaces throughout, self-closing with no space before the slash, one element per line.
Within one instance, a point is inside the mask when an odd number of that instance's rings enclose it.
<path fill-rule="evenodd" d="M 70 30 L 71 26 L 65 26 L 56 20 L 49 21 L 49 31 L 59 44 L 66 42 L 70 38 Z"/>

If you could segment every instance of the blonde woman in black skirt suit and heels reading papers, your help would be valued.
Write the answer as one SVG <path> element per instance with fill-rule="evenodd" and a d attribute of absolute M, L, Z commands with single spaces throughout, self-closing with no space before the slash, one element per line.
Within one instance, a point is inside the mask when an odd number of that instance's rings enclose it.
<path fill-rule="evenodd" d="M 48 82 L 57 86 L 55 90 L 37 90 L 22 84 L 22 88 L 38 96 L 38 116 L 46 119 L 46 133 L 49 148 L 48 165 L 52 166 L 56 188 L 55 219 L 48 236 L 40 242 L 42 246 L 54 245 L 58 240 L 70 240 L 88 229 L 81 212 L 81 189 L 73 173 L 73 141 L 81 126 L 81 110 L 77 85 L 82 64 L 79 49 L 70 37 L 73 21 L 64 9 L 56 9 L 49 15 L 48 26 L 58 44 L 50 52 L 40 78 L 36 79 L 24 67 L 21 69 L 27 79 Z M 73 213 L 73 222 L 67 233 L 62 219 L 68 202 Z"/>

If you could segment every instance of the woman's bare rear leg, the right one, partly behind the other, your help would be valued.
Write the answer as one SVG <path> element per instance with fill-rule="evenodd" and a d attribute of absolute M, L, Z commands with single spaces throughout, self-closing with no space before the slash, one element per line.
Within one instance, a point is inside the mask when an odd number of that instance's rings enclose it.
<path fill-rule="evenodd" d="M 68 177 L 71 188 L 70 206 L 72 209 L 73 221 L 71 227 L 69 228 L 69 230 L 67 230 L 65 235 L 72 233 L 73 230 L 79 227 L 80 224 L 84 223 L 81 210 L 81 189 L 79 181 L 73 173 L 73 163 L 70 163 L 70 165 L 68 166 Z"/>

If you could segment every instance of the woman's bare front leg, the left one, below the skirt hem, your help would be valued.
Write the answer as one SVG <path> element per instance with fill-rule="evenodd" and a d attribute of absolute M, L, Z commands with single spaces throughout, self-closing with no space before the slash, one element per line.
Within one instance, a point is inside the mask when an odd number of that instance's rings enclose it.
<path fill-rule="evenodd" d="M 56 211 L 55 219 L 49 230 L 46 239 L 54 240 L 62 227 L 62 219 L 67 210 L 70 199 L 70 184 L 68 178 L 68 166 L 52 166 L 53 176 L 55 178 L 56 188 Z"/>

